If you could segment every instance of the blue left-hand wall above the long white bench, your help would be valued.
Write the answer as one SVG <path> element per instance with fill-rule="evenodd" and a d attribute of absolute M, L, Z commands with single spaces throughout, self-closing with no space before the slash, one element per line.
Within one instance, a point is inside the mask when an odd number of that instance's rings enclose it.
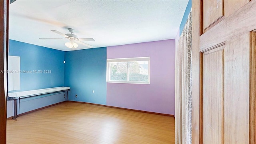
<path fill-rule="evenodd" d="M 10 56 L 20 56 L 20 70 L 51 70 L 51 73 L 20 73 L 20 90 L 64 86 L 65 52 L 10 40 Z"/>

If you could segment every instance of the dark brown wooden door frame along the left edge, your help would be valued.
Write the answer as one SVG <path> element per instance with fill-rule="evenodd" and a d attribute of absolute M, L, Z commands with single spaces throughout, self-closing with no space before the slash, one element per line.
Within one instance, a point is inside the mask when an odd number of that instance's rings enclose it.
<path fill-rule="evenodd" d="M 0 70 L 6 70 L 4 58 L 8 56 L 8 6 L 9 1 L 0 0 Z M 6 74 L 0 73 L 0 144 L 6 143 Z"/>

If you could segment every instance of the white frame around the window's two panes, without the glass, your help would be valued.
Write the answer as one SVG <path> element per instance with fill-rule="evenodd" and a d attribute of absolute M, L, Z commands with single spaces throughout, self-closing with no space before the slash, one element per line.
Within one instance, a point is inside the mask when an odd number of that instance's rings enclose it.
<path fill-rule="evenodd" d="M 148 61 L 148 82 L 129 81 L 129 62 L 134 62 L 134 61 Z M 127 62 L 127 80 L 126 81 L 110 80 L 110 64 L 109 64 L 110 62 Z M 124 84 L 150 84 L 150 57 L 107 59 L 106 82 L 124 83 Z"/>

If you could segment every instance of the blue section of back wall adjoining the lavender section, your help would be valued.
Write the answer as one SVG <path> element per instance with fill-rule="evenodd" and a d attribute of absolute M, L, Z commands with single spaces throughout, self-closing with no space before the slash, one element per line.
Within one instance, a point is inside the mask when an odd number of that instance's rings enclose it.
<path fill-rule="evenodd" d="M 106 59 L 106 47 L 65 52 L 68 100 L 106 104 Z"/>

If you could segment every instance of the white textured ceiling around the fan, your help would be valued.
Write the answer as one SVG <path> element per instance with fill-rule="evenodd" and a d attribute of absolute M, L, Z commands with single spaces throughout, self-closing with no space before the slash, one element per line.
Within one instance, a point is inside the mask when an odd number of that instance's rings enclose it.
<path fill-rule="evenodd" d="M 167 1 L 82 1 L 17 0 L 10 4 L 10 39 L 58 50 L 69 49 L 64 37 L 50 31 L 69 33 L 93 48 L 175 38 L 188 0 Z M 63 38 L 40 40 L 39 38 Z"/>

